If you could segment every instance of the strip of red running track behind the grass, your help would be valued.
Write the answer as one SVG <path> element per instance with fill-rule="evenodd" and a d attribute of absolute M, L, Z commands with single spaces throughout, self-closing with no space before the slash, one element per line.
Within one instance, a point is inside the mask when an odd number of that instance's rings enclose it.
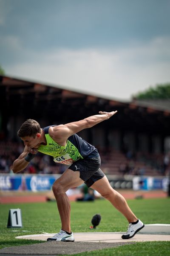
<path fill-rule="evenodd" d="M 119 191 L 125 199 L 142 198 L 166 198 L 167 193 L 164 191 Z M 70 201 L 75 201 L 77 197 L 81 195 L 71 195 L 69 196 Z M 11 203 L 33 203 L 33 202 L 46 202 L 46 195 L 0 195 L 0 204 L 11 204 Z"/>

